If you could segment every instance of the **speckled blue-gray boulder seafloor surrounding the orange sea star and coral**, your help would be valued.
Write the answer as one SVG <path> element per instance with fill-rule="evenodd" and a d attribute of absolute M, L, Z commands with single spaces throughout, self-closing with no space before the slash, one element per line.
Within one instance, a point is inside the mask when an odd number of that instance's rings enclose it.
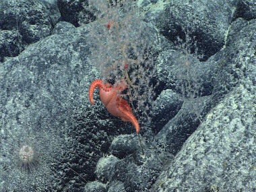
<path fill-rule="evenodd" d="M 141 145 L 97 90 L 90 104 L 92 24 L 59 2 L 0 3 L 0 191 L 256 191 L 254 1 L 137 2 L 148 24 L 128 36 L 148 29 L 159 82 Z"/>

